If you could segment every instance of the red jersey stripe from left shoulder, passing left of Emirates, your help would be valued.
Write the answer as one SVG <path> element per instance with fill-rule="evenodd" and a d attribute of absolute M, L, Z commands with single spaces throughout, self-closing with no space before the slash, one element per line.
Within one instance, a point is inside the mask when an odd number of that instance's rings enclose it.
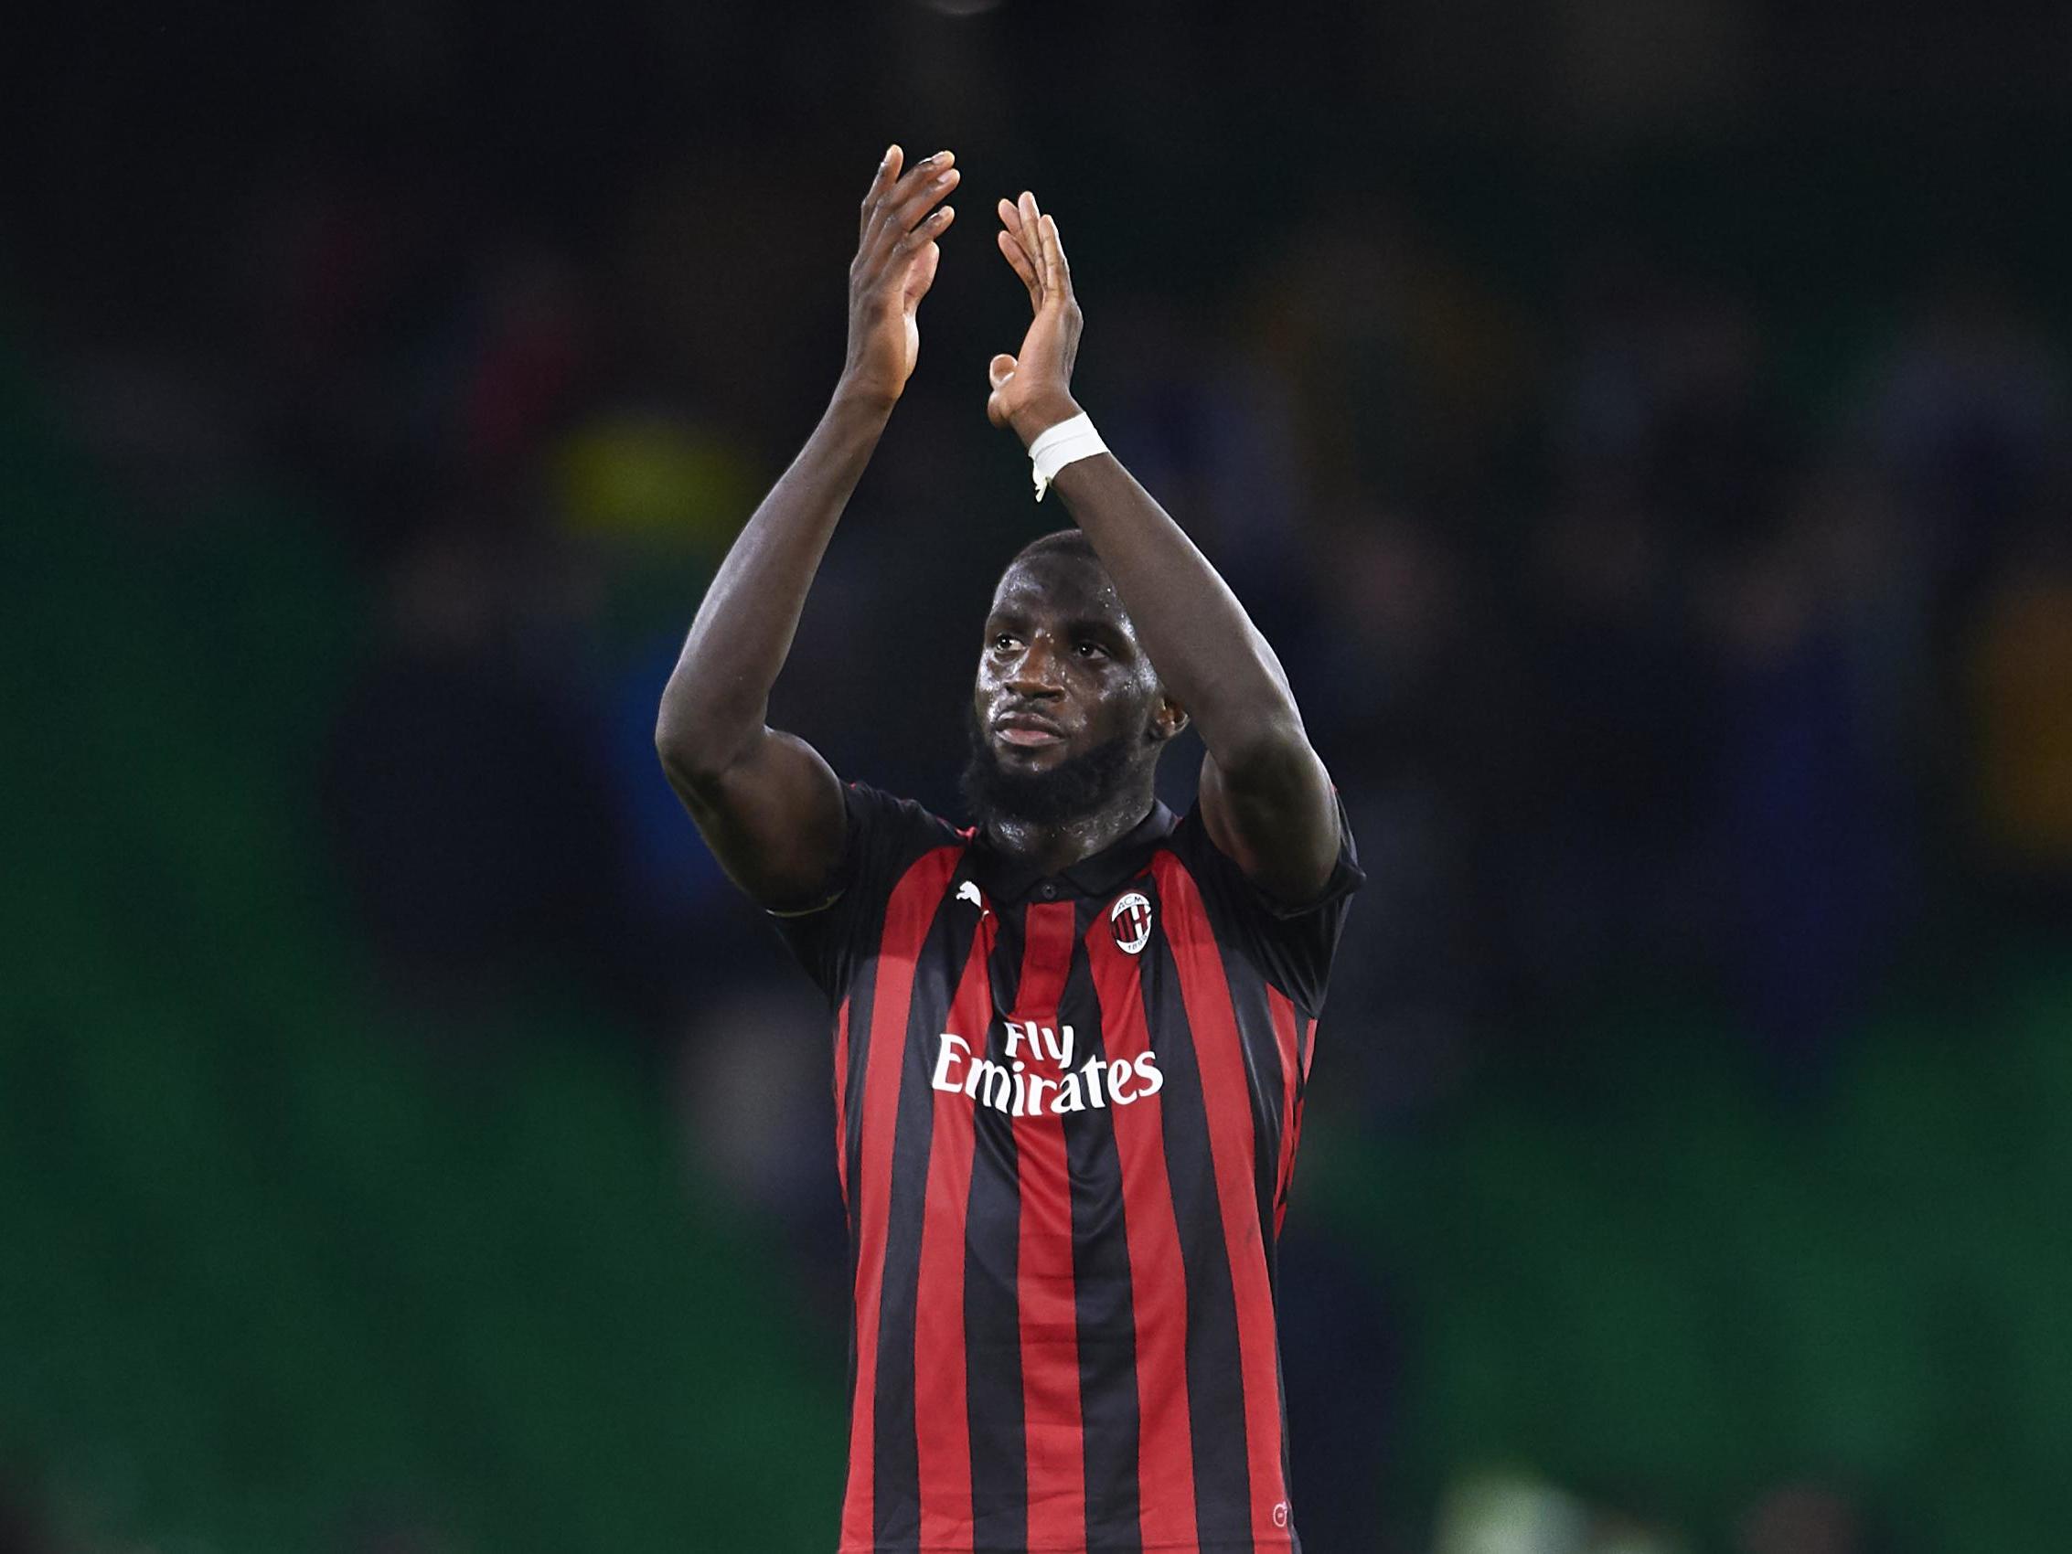
<path fill-rule="evenodd" d="M 862 1100 L 854 1117 L 862 1133 L 854 1181 L 856 1222 L 856 1378 L 850 1399 L 850 1488 L 841 1506 L 841 1542 L 866 1550 L 876 1542 L 876 1407 L 879 1318 L 885 1289 L 885 1251 L 891 1231 L 893 1133 L 899 1121 L 899 1077 L 905 1067 L 908 1013 L 914 992 L 914 963 L 920 959 L 928 924 L 943 901 L 961 847 L 934 847 L 908 866 L 885 903 L 879 939 L 876 978 L 870 988 L 870 1024 L 862 1034 Z M 858 1036 L 850 1021 L 852 1044 Z M 858 1069 L 852 1053 L 852 1077 Z M 905 1386 L 905 1378 L 899 1378 Z"/>

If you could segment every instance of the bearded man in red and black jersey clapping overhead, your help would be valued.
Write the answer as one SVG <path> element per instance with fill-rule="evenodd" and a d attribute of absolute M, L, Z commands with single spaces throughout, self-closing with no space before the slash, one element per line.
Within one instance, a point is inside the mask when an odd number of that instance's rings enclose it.
<path fill-rule="evenodd" d="M 1361 874 L 1272 649 L 1071 398 L 1057 224 L 986 414 L 1077 528 L 1001 576 L 957 829 L 765 727 L 821 553 L 920 348 L 949 151 L 887 151 L 835 398 L 713 580 L 655 731 L 835 1007 L 856 1326 L 843 1554 L 1295 1550 L 1274 1239 Z M 1048 433 L 1048 435 L 1046 435 Z M 1158 754 L 1208 756 L 1185 818 Z"/>

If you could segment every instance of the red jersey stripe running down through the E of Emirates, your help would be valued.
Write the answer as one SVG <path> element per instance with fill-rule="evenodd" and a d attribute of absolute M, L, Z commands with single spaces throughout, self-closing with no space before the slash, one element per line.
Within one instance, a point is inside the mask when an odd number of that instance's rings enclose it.
<path fill-rule="evenodd" d="M 992 1021 L 986 959 L 992 918 L 978 922 L 963 976 L 941 1030 L 922 1034 L 922 1063 L 932 1082 L 943 1032 L 982 1051 Z M 966 1055 L 970 1061 L 970 1055 Z M 912 1080 L 910 1080 L 912 1084 Z M 928 1191 L 920 1231 L 914 1312 L 914 1434 L 920 1467 L 920 1546 L 972 1550 L 972 1434 L 963 1376 L 963 1216 L 972 1191 L 972 1100 L 961 1090 L 928 1088 L 934 1111 Z"/>

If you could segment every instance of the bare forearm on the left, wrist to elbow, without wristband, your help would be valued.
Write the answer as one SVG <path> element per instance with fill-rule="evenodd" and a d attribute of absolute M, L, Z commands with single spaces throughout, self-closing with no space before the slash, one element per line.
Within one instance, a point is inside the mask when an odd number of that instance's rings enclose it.
<path fill-rule="evenodd" d="M 889 414 L 885 396 L 837 387 L 733 541 L 663 690 L 655 742 L 673 767 L 725 769 L 762 731 L 812 576 Z"/>

